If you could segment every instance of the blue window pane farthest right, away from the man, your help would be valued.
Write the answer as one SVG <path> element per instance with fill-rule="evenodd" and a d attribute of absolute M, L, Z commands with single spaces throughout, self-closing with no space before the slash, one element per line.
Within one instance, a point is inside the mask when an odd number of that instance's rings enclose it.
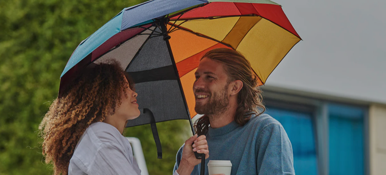
<path fill-rule="evenodd" d="M 329 175 L 364 175 L 360 108 L 329 105 Z"/>

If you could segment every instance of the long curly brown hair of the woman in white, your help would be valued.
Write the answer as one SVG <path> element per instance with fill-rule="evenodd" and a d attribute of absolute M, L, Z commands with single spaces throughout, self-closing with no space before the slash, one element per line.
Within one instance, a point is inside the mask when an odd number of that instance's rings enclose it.
<path fill-rule="evenodd" d="M 67 175 L 69 161 L 90 124 L 103 121 L 119 108 L 131 83 L 116 61 L 87 68 L 51 104 L 39 125 L 42 154 L 54 175 Z M 122 93 L 122 90 L 124 93 Z"/>

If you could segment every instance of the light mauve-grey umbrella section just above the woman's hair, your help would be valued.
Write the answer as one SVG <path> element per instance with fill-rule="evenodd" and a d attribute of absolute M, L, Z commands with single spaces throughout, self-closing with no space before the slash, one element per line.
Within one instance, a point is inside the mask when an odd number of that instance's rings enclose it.
<path fill-rule="evenodd" d="M 150 29 L 154 28 L 155 27 L 152 27 Z M 151 30 L 143 31 L 142 34 L 145 35 L 137 35 L 134 38 L 131 38 L 121 44 L 121 46 L 96 59 L 94 63 L 99 64 L 101 62 L 107 62 L 109 59 L 116 59 L 120 63 L 122 70 L 125 70 L 132 58 L 134 58 L 135 54 L 138 52 L 139 48 L 141 48 L 143 43 L 149 37 L 147 34 L 150 34 L 151 32 Z"/>

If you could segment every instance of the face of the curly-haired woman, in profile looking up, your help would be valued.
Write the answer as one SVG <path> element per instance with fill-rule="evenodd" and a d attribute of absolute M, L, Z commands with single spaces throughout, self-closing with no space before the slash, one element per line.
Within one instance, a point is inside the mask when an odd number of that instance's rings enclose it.
<path fill-rule="evenodd" d="M 128 80 L 125 79 L 125 81 L 129 84 Z M 119 109 L 116 111 L 116 113 L 119 114 L 119 116 L 124 116 L 126 120 L 134 119 L 138 117 L 141 112 L 138 109 L 137 104 L 137 96 L 138 94 L 129 88 L 126 90 L 126 94 L 128 94 L 128 98 L 125 97 L 125 93 L 122 90 L 122 104 L 119 107 Z"/>

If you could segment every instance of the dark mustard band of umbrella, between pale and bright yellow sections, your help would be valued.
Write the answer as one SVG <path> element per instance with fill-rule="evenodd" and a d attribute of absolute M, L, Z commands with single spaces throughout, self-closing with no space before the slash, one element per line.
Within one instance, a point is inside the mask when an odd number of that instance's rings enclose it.
<path fill-rule="evenodd" d="M 261 20 L 259 16 L 242 16 L 233 29 L 224 38 L 223 42 L 231 45 L 233 48 L 237 48 L 241 40 L 252 29 L 255 24 Z"/>

